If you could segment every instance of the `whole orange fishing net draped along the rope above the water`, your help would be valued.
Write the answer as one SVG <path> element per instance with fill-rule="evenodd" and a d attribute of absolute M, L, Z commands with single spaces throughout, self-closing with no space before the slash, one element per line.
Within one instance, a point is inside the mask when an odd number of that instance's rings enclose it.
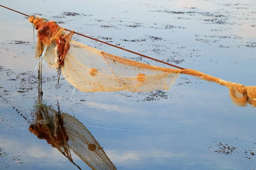
<path fill-rule="evenodd" d="M 235 105 L 256 107 L 256 86 L 227 82 L 192 69 L 157 67 L 118 57 L 71 40 L 73 32 L 67 34 L 54 21 L 34 16 L 29 21 L 38 30 L 36 57 L 43 57 L 80 91 L 169 90 L 179 74 L 187 74 L 226 86 Z"/>

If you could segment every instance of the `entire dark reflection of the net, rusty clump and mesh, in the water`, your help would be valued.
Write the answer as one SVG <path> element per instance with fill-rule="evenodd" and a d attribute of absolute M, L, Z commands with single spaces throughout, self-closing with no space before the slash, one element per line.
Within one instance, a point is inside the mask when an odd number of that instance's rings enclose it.
<path fill-rule="evenodd" d="M 92 170 L 116 170 L 99 142 L 79 120 L 44 104 L 37 104 L 33 113 L 36 118 L 29 131 L 45 139 L 73 164 L 70 149 Z"/>

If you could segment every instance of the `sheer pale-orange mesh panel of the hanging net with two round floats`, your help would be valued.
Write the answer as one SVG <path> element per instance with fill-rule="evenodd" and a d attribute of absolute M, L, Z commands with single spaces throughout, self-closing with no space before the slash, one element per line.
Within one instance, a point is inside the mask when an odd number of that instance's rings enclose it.
<path fill-rule="evenodd" d="M 47 62 L 54 67 L 54 61 L 53 44 Z M 61 71 L 68 82 L 85 92 L 168 90 L 180 72 L 117 57 L 73 40 Z"/>

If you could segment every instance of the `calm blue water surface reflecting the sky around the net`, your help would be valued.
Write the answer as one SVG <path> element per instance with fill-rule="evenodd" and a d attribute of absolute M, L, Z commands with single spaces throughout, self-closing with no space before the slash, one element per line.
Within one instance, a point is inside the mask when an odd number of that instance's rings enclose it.
<path fill-rule="evenodd" d="M 255 0 L 1 0 L 0 4 L 183 68 L 256 84 Z M 77 169 L 46 140 L 29 132 L 38 103 L 33 27 L 4 8 L 0 21 L 0 169 Z M 73 39 L 164 66 L 84 37 Z M 256 168 L 250 154 L 256 151 L 255 108 L 233 105 L 226 87 L 180 75 L 166 92 L 76 90 L 70 99 L 73 86 L 65 79 L 56 85 L 56 75 L 43 66 L 42 102 L 56 110 L 59 103 L 61 112 L 74 114 L 118 170 Z M 215 152 L 223 146 L 235 150 Z M 91 169 L 73 152 L 72 158 L 81 169 Z"/>

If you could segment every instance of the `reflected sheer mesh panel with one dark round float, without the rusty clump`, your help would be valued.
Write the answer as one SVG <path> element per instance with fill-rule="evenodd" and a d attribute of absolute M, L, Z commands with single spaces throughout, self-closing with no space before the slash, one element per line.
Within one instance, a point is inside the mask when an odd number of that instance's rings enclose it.
<path fill-rule="evenodd" d="M 69 136 L 68 145 L 93 170 L 116 170 L 111 160 L 89 130 L 76 118 L 61 114 Z"/>

